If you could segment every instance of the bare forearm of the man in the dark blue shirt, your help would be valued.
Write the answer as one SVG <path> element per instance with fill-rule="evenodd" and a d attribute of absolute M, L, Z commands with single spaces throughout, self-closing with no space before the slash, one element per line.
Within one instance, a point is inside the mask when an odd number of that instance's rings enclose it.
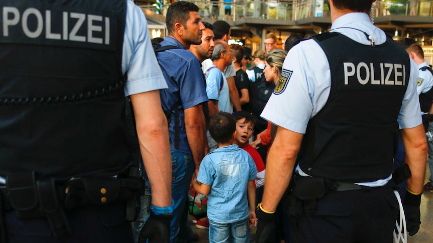
<path fill-rule="evenodd" d="M 185 109 L 186 138 L 194 159 L 196 173 L 198 173 L 200 162 L 204 157 L 204 143 L 207 143 L 207 140 L 204 139 L 202 116 L 203 109 L 201 109 L 200 105 Z"/>

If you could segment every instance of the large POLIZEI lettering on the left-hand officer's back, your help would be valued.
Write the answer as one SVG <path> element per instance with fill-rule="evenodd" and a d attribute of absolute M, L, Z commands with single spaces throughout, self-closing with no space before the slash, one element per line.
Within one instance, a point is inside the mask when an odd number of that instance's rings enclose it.
<path fill-rule="evenodd" d="M 116 35 L 113 13 L 98 10 L 47 9 L 31 2 L 12 2 L 0 12 L 0 42 L 34 43 L 47 45 L 87 45 L 106 49 Z M 75 43 L 75 44 L 74 44 Z M 90 44 L 90 46 L 88 46 Z M 99 46 L 99 47 L 98 47 Z M 105 47 L 104 47 L 105 46 Z"/>

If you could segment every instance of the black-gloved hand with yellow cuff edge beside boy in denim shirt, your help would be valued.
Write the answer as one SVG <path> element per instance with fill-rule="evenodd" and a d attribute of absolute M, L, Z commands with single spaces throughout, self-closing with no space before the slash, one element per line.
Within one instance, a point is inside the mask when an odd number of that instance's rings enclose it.
<path fill-rule="evenodd" d="M 259 205 L 257 206 L 256 215 L 256 242 L 275 242 L 275 213 L 264 212 L 259 203 Z"/>

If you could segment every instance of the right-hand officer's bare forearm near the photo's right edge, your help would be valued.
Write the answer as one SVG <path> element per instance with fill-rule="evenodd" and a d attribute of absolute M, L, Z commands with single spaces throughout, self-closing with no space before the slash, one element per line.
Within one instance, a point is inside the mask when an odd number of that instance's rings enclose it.
<path fill-rule="evenodd" d="M 406 149 L 406 164 L 412 176 L 407 179 L 407 189 L 413 193 L 422 193 L 425 165 L 427 158 L 427 141 L 424 127 L 401 129 L 401 138 Z"/>

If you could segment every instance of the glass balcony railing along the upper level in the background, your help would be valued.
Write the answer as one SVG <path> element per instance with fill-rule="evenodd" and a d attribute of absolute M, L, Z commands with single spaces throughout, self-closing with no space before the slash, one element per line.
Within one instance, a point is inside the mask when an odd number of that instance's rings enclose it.
<path fill-rule="evenodd" d="M 212 17 L 212 2 L 190 1 L 196 4 L 203 20 L 240 20 L 247 18 L 267 20 L 300 20 L 311 17 L 330 17 L 324 0 L 232 0 L 218 3 L 217 16 Z M 375 17 L 388 15 L 433 16 L 433 0 L 377 0 Z M 155 6 L 141 6 L 156 11 Z M 166 13 L 168 5 L 163 6 Z M 230 14 L 226 15 L 226 9 Z"/>

